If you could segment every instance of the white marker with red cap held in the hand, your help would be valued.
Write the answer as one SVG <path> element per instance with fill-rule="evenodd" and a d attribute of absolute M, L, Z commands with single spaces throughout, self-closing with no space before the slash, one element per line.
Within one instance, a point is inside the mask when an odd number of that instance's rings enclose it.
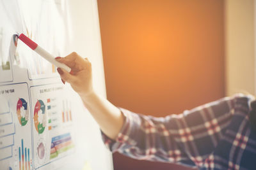
<path fill-rule="evenodd" d="M 55 57 L 51 53 L 49 53 L 46 50 L 44 50 L 44 48 L 42 48 L 41 46 L 37 45 L 34 41 L 29 39 L 27 36 L 25 36 L 24 34 L 20 34 L 19 39 L 21 41 L 23 41 L 23 43 L 28 45 L 36 53 L 38 53 L 39 55 L 44 57 L 44 59 L 46 59 L 47 61 L 51 62 L 54 66 L 61 67 L 62 69 L 65 69 L 65 71 L 68 71 L 68 73 L 70 73 L 70 71 L 71 71 L 70 67 L 66 66 L 65 64 L 63 64 L 61 62 L 56 61 Z"/>

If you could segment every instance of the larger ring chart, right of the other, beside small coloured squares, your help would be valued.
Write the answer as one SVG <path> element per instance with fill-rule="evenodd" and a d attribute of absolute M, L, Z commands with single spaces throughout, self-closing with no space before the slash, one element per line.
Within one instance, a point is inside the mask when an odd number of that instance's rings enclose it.
<path fill-rule="evenodd" d="M 38 134 L 42 134 L 44 132 L 46 121 L 47 121 L 46 114 L 45 114 L 45 104 L 42 100 L 38 100 L 36 102 L 33 118 L 34 118 L 36 131 L 38 132 Z"/>

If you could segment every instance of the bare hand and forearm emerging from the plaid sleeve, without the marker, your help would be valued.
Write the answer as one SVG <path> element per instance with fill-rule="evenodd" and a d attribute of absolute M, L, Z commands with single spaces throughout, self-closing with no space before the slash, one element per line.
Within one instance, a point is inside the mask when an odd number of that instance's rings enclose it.
<path fill-rule="evenodd" d="M 77 55 L 76 52 L 67 55 L 67 57 L 57 57 L 56 60 L 72 69 L 71 74 L 64 69 L 57 69 L 62 81 L 70 83 L 72 88 L 79 94 L 84 105 L 99 124 L 102 132 L 109 138 L 115 139 L 124 124 L 124 117 L 118 108 L 94 92 L 92 64 L 88 59 L 83 59 Z"/>

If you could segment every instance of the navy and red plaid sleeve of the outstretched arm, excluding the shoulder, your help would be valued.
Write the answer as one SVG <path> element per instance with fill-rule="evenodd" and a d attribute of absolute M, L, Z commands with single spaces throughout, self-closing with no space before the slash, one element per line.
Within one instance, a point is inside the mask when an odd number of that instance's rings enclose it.
<path fill-rule="evenodd" d="M 120 152 L 134 159 L 199 167 L 213 152 L 230 124 L 237 97 L 225 97 L 164 118 L 120 108 L 125 122 L 117 138 L 112 140 L 102 132 L 102 139 L 111 152 Z"/>

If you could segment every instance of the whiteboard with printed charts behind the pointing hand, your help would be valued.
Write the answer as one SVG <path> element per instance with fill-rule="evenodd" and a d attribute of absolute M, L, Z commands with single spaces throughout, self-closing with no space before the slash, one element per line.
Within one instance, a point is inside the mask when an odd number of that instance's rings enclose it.
<path fill-rule="evenodd" d="M 88 57 L 106 97 L 97 1 L 0 0 L 0 21 L 0 169 L 113 169 L 79 96 L 16 35 L 56 56 Z"/>

